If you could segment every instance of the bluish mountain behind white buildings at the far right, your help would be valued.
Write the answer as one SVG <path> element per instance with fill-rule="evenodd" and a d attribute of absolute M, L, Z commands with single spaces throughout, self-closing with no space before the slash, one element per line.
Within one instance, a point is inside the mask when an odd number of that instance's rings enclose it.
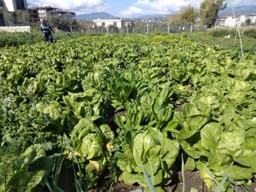
<path fill-rule="evenodd" d="M 242 5 L 234 7 L 235 15 L 250 15 L 256 13 L 256 5 Z M 231 7 L 227 7 L 226 9 L 219 11 L 219 17 L 222 16 L 231 16 L 233 15 L 233 11 Z"/>

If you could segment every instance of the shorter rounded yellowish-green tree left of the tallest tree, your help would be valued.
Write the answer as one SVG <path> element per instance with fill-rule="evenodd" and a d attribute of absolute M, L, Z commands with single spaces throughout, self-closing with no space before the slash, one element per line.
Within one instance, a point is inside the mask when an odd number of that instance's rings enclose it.
<path fill-rule="evenodd" d="M 181 10 L 180 19 L 182 22 L 195 23 L 196 8 L 192 4 L 183 6 Z"/>

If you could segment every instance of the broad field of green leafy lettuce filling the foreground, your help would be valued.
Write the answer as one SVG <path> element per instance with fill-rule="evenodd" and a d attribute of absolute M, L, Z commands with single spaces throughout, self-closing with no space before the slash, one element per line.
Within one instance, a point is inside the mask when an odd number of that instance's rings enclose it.
<path fill-rule="evenodd" d="M 144 169 L 163 192 L 182 156 L 209 191 L 220 181 L 223 191 L 249 190 L 255 64 L 256 55 L 242 59 L 186 35 L 1 48 L 0 191 L 62 191 L 68 167 L 79 192 L 100 181 L 149 191 Z"/>

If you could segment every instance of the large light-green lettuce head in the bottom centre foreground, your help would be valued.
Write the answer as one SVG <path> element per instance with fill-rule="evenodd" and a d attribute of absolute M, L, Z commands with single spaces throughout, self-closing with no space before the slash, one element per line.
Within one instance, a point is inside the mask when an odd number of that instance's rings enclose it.
<path fill-rule="evenodd" d="M 150 127 L 147 132 L 139 133 L 131 148 L 124 146 L 124 153 L 119 153 L 117 165 L 123 171 L 119 181 L 123 180 L 127 184 L 139 183 L 147 187 L 144 179 L 139 157 L 150 175 L 150 167 L 154 174 L 154 185 L 167 185 L 172 180 L 172 170 L 176 157 L 179 154 L 179 144 L 177 141 L 165 138 L 156 128 Z"/>

